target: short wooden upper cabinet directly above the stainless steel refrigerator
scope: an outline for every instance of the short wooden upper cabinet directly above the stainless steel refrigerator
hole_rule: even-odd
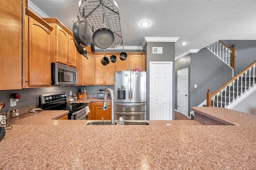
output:
[[[127,53],[127,58],[124,61],[118,56],[115,63],[115,71],[133,71],[134,68],[139,68],[140,71],[144,71],[144,56],[144,53]]]

